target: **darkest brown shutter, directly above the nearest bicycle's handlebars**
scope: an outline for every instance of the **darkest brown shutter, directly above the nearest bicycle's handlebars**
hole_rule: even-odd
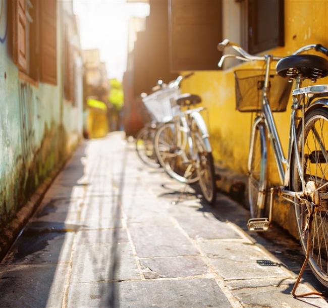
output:
[[[284,0],[248,0],[247,11],[250,54],[284,46]]]

